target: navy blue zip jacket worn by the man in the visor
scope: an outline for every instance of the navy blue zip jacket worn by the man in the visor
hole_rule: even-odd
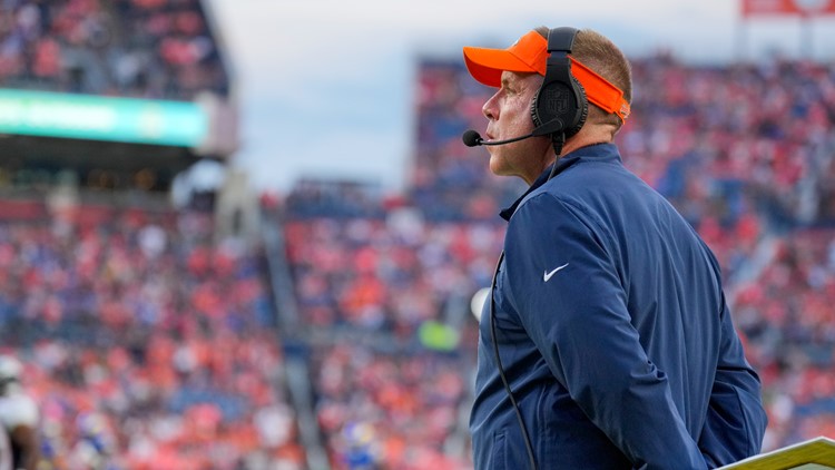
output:
[[[497,342],[539,469],[704,469],[760,451],[759,378],[710,249],[616,146],[560,158],[513,207]],[[529,468],[490,302],[470,419],[475,468]]]

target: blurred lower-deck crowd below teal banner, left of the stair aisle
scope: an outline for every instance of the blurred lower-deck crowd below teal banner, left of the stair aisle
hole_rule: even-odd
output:
[[[0,222],[0,347],[39,404],[40,468],[305,468],[263,255],[214,227],[107,206]]]

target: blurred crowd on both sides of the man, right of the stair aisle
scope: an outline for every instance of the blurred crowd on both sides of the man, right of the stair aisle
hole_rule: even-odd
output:
[[[618,144],[626,165],[681,209],[720,261],[764,380],[765,450],[834,437],[835,65],[687,66],[659,53],[633,60],[633,114]],[[439,388],[394,364],[450,361],[463,364],[459,378],[474,370],[468,302],[489,285],[501,249],[499,208],[524,189],[490,175],[483,150],[461,144],[465,129],[483,127],[485,92],[456,61],[423,61],[409,194],[394,203],[323,198],[307,185],[286,199],[302,316],[316,329],[373,331],[397,351],[338,335],[320,345],[317,412],[336,468],[403,468],[401,439],[413,453],[445,456],[432,468],[465,468],[465,445],[451,443],[465,435],[466,413],[448,420],[453,407],[469,409],[470,381],[450,384],[454,393],[439,403]],[[456,346],[422,344],[429,322],[452,327]],[[425,381],[449,380],[444,368],[423,369]],[[404,402],[412,419],[402,419]],[[434,419],[440,428],[426,423]]]

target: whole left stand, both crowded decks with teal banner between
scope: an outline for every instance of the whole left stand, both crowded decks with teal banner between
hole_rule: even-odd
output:
[[[169,197],[236,144],[212,20],[0,2],[0,352],[40,408],[41,469],[308,467],[245,178]]]

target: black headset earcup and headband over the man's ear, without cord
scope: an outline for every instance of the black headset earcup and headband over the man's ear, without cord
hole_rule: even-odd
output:
[[[568,57],[574,46],[577,29],[562,27],[548,31],[546,78],[531,101],[531,119],[537,128],[548,126],[557,155],[566,138],[579,133],[589,114],[589,100],[582,85],[571,74]]]

